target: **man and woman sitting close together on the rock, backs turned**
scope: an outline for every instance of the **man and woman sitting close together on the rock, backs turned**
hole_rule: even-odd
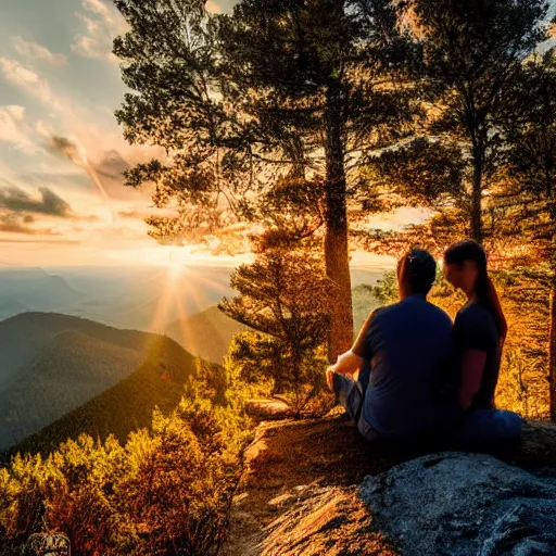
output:
[[[372,312],[352,349],[327,369],[328,386],[367,440],[519,439],[521,417],[494,406],[507,326],[484,250],[471,240],[455,243],[444,274],[468,298],[454,324],[427,301],[434,258],[414,250],[397,264],[401,301]]]

